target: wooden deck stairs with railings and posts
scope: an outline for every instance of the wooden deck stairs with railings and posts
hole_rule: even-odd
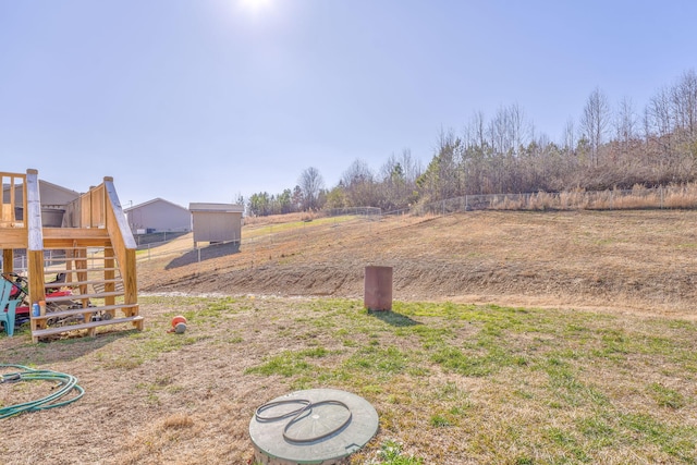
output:
[[[23,184],[24,218],[2,205],[0,248],[3,272],[12,271],[12,248],[26,248],[32,303],[45,303],[32,315],[32,340],[125,323],[143,330],[137,303],[135,241],[119,203],[113,180],[91,187],[75,203],[72,224],[42,228],[38,172],[5,174]],[[8,205],[13,205],[14,199]],[[54,278],[61,277],[61,280]],[[60,281],[60,282],[58,282]],[[71,334],[72,335],[72,334]]]

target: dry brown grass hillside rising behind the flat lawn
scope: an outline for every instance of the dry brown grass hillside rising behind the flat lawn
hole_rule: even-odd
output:
[[[203,249],[200,262],[197,253],[142,260],[140,290],[362,297],[364,268],[383,265],[400,301],[694,315],[695,211],[271,221],[245,225],[240,250]]]

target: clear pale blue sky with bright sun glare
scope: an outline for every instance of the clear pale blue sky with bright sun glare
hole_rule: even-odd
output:
[[[517,105],[561,140],[697,68],[693,0],[0,0],[0,171],[127,208],[331,188]]]

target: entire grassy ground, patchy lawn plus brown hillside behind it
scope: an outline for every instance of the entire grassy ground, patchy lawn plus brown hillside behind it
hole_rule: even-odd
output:
[[[0,463],[248,464],[255,409],[308,388],[376,407],[354,464],[697,463],[697,211],[308,219],[139,257],[143,332],[0,336],[0,363],[85,389],[2,420]],[[394,268],[393,311],[363,308],[367,265]]]

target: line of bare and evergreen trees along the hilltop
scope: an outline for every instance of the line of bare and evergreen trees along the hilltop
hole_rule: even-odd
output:
[[[293,189],[258,193],[250,215],[322,208],[408,208],[473,194],[603,191],[693,182],[697,174],[697,73],[684,72],[638,109],[629,97],[612,105],[599,88],[557,142],[537,134],[518,105],[489,119],[473,113],[461,132],[441,131],[428,166],[405,149],[378,172],[355,160],[339,183],[325,186],[316,168]]]

